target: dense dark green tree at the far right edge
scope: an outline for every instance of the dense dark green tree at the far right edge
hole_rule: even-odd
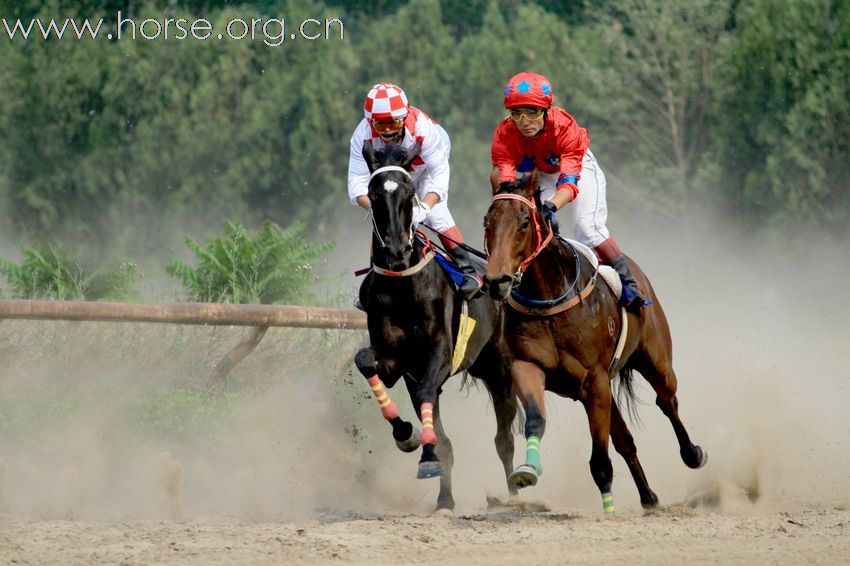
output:
[[[715,155],[730,210],[842,230],[850,212],[850,6],[754,0],[737,13]]]

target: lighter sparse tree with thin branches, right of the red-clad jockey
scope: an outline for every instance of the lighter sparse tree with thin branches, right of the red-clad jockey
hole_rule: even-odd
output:
[[[597,156],[606,173],[623,179],[618,185],[636,194],[641,207],[687,222],[710,139],[730,3],[610,6],[571,43],[570,74],[580,82],[567,95],[587,116],[591,138],[602,140],[604,154]]]

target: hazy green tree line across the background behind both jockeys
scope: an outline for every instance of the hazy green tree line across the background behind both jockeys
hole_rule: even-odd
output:
[[[612,196],[685,223],[709,198],[757,228],[846,229],[847,2],[27,0],[0,15],[122,7],[217,29],[338,17],[346,33],[279,47],[0,38],[0,221],[24,238],[158,250],[173,226],[234,216],[324,235],[380,80],[446,127],[453,206],[481,208],[501,90],[523,69],[548,74],[590,130]]]

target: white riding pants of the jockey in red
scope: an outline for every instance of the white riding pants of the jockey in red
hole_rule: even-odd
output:
[[[540,197],[546,202],[555,194],[559,173],[537,172]],[[573,237],[591,248],[608,239],[608,204],[605,201],[605,173],[588,149],[581,162],[578,196],[572,202]]]

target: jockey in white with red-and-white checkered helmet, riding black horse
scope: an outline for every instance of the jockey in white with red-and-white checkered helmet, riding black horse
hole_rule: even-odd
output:
[[[451,212],[449,212],[449,155],[452,144],[446,131],[425,112],[410,106],[404,91],[394,84],[379,83],[369,90],[363,105],[363,120],[351,135],[351,155],[348,159],[348,197],[351,204],[365,210],[371,208],[369,197],[369,168],[363,158],[363,143],[380,149],[388,143],[411,148],[421,146],[419,156],[411,165],[410,177],[419,203],[413,208],[413,222],[425,223],[440,237],[446,250],[463,271],[461,295],[472,298],[481,289],[482,280],[475,273],[469,252]]]

